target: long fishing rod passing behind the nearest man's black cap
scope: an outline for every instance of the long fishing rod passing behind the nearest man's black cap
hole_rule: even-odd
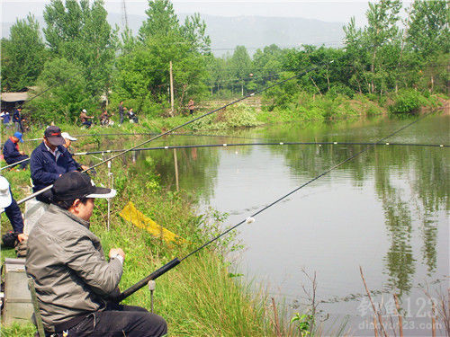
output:
[[[112,159],[115,159],[115,158],[117,158],[118,156],[125,155],[126,153],[128,153],[128,152],[130,152],[130,151],[132,151],[132,150],[134,150],[134,149],[136,149],[136,148],[138,148],[138,147],[140,147],[140,146],[144,146],[144,145],[148,144],[149,142],[151,142],[151,141],[153,141],[153,140],[155,140],[155,139],[157,139],[157,138],[159,138],[159,137],[166,136],[166,135],[168,135],[169,133],[172,133],[173,131],[175,131],[175,130],[177,130],[177,129],[181,129],[181,128],[185,127],[186,125],[192,124],[195,120],[201,120],[202,118],[204,118],[204,117],[206,117],[206,116],[209,116],[209,115],[211,115],[212,113],[215,113],[215,112],[217,112],[217,111],[220,111],[220,110],[222,110],[222,109],[225,109],[225,108],[227,108],[227,107],[229,107],[229,106],[231,106],[231,105],[233,105],[233,104],[236,104],[236,103],[238,103],[238,102],[247,100],[247,98],[253,97],[253,96],[255,96],[257,93],[263,93],[263,92],[265,92],[266,90],[275,87],[276,85],[284,84],[284,83],[286,83],[286,82],[288,82],[288,81],[293,80],[294,78],[297,78],[297,77],[300,77],[300,76],[302,76],[302,75],[308,74],[308,73],[310,73],[311,71],[318,69],[319,67],[328,65],[328,64],[333,63],[333,62],[334,62],[334,60],[332,60],[332,61],[330,61],[330,62],[327,62],[327,63],[324,63],[324,64],[322,64],[322,65],[320,65],[320,66],[314,66],[314,67],[311,67],[311,68],[309,68],[309,69],[303,71],[301,74],[293,75],[293,76],[291,76],[291,77],[288,77],[288,78],[284,79],[283,81],[279,81],[279,82],[276,82],[275,84],[268,85],[268,86],[266,86],[265,88],[263,88],[263,89],[261,89],[261,90],[258,90],[258,91],[255,92],[255,93],[247,94],[247,96],[244,96],[244,97],[239,98],[238,100],[229,102],[229,103],[227,103],[227,104],[221,106],[220,108],[214,109],[213,111],[206,112],[206,113],[202,114],[201,116],[194,118],[193,120],[188,120],[188,121],[186,121],[185,123],[183,123],[183,124],[181,124],[181,125],[179,125],[179,126],[173,128],[173,129],[169,129],[169,130],[167,130],[166,132],[163,132],[163,133],[161,133],[161,134],[159,134],[159,135],[157,135],[157,136],[155,136],[155,137],[151,137],[150,139],[146,140],[145,142],[140,143],[140,144],[137,145],[137,146],[132,146],[132,147],[130,147],[129,149],[126,149],[126,150],[122,151],[122,152],[119,153],[118,155],[112,155],[112,157],[110,157],[110,158],[108,158],[108,159],[105,159],[105,160],[103,160],[103,161],[100,162],[100,163],[97,163],[97,164],[92,165],[91,167],[85,169],[83,172],[87,172],[87,171],[89,171],[89,170],[93,170],[95,167],[97,167],[97,166],[99,166],[99,165],[101,165],[101,164],[105,164],[105,163],[107,163],[107,162],[110,162],[110,161],[112,161]],[[27,200],[31,200],[31,199],[37,197],[38,195],[40,195],[41,193],[43,193],[44,191],[49,191],[52,187],[53,187],[53,184],[51,184],[51,185],[49,185],[49,186],[43,188],[43,189],[40,190],[40,191],[37,191],[37,192],[35,192],[35,193],[32,193],[32,194],[29,195],[28,197],[23,198],[23,200],[17,201],[17,204],[20,205],[20,204],[22,204],[23,202],[25,202],[25,201],[27,201]],[[0,213],[1,213],[1,211],[0,211]]]

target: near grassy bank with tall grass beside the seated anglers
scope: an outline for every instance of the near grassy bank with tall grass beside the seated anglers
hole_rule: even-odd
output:
[[[82,162],[82,160],[80,160]],[[107,185],[106,168],[100,166],[94,181]],[[104,252],[122,247],[126,253],[121,289],[128,288],[150,272],[175,257],[182,258],[216,231],[220,219],[199,216],[194,212],[192,197],[183,192],[161,189],[151,164],[147,167],[123,167],[112,162],[118,196],[112,200],[111,229],[105,228],[107,204],[98,200],[91,219],[91,229],[101,238]],[[29,171],[5,172],[16,199],[28,195]],[[118,213],[132,201],[136,208],[184,238],[184,244],[166,244],[159,238],[123,220]],[[2,232],[9,221],[2,215]],[[157,279],[155,310],[166,318],[174,336],[268,336],[273,326],[266,312],[266,297],[255,295],[248,284],[229,274],[229,262],[223,255],[228,242],[212,244]],[[14,250],[2,248],[2,257],[13,257]],[[125,304],[150,307],[149,291],[140,289]],[[31,325],[2,327],[4,336],[32,336]]]

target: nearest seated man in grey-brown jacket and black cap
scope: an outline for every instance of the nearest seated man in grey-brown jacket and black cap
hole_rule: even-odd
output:
[[[53,200],[31,229],[25,268],[34,279],[40,315],[48,335],[162,336],[166,321],[139,306],[111,301],[117,294],[125,253],[112,248],[109,261],[89,230],[94,198],[114,190],[95,187],[85,173],[61,176]]]

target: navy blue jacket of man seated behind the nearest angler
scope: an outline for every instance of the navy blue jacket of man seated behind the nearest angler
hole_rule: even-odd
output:
[[[58,161],[49,152],[44,142],[40,143],[31,153],[30,169],[34,185],[32,191],[40,191],[51,185],[59,178],[59,174],[76,171],[76,164],[67,148],[58,146],[58,150],[60,152]]]

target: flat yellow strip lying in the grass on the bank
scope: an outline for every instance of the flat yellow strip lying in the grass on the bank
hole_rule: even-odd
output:
[[[157,223],[151,218],[139,212],[131,201],[121,210],[119,215],[125,220],[130,221],[134,226],[145,229],[149,234],[158,238],[161,237],[164,241],[166,241],[166,243],[184,242],[182,237],[175,235],[175,233],[169,231],[163,226],[157,225]]]

